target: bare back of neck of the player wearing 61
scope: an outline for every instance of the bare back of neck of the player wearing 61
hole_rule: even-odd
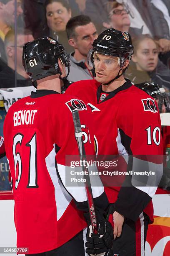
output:
[[[37,90],[53,90],[61,93],[60,79],[54,75],[37,80]]]

